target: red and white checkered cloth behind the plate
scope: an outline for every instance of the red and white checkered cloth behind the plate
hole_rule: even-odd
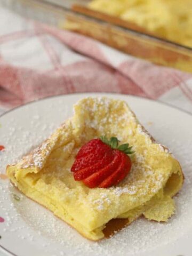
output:
[[[0,114],[34,99],[73,92],[134,94],[192,113],[192,74],[153,65],[6,9],[1,9],[0,20]]]

